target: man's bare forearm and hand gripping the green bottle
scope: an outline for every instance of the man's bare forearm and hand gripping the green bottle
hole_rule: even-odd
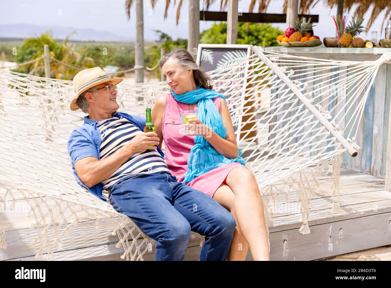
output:
[[[109,157],[98,160],[96,157],[85,157],[75,163],[75,170],[81,182],[88,188],[106,180],[132,155],[146,149],[157,149],[159,138],[154,132],[136,135],[129,143],[115,151]]]

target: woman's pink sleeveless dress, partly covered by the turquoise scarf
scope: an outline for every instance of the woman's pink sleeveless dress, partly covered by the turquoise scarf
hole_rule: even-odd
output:
[[[213,103],[218,111],[220,110],[220,98],[213,98]],[[194,107],[194,110],[197,111],[197,108],[198,105]],[[195,137],[183,132],[179,112],[184,110],[189,110],[188,104],[176,101],[171,93],[166,94],[166,108],[161,131],[165,145],[166,163],[170,173],[176,176],[178,182],[185,179],[185,174],[188,171],[187,160],[190,156],[190,149],[194,146]],[[197,176],[185,184],[213,197],[228,173],[239,166],[245,167],[239,162],[232,162]]]

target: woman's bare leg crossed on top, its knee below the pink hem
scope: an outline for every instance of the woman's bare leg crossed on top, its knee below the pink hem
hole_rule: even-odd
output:
[[[235,195],[235,220],[246,238],[253,259],[268,261],[270,253],[264,204],[253,173],[246,167],[235,167],[228,174],[225,184]]]

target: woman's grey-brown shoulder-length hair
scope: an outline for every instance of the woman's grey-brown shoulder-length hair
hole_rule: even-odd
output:
[[[159,67],[163,66],[163,64],[170,58],[174,58],[178,61],[179,66],[181,66],[185,70],[193,70],[194,82],[195,85],[200,86],[205,89],[212,89],[212,79],[205,73],[205,71],[198,67],[197,63],[195,63],[193,57],[186,49],[173,49],[170,50],[163,58],[159,61]]]

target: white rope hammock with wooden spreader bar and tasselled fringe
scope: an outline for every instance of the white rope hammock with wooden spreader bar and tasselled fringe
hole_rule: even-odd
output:
[[[295,193],[301,203],[300,232],[307,234],[319,177],[332,180],[331,212],[340,212],[342,155],[357,155],[354,139],[369,88],[391,56],[355,62],[264,52],[260,47],[253,52],[208,74],[215,79],[213,89],[228,98],[239,148],[262,193],[267,227],[278,202]],[[120,84],[118,111],[144,116],[145,108],[168,91],[165,82]],[[39,244],[37,259],[53,259],[54,252],[74,241],[72,227],[95,221],[102,233],[118,236],[122,259],[142,260],[154,240],[74,179],[66,147],[85,114],[70,111],[73,97],[72,81],[0,70],[0,207],[12,211],[20,202],[28,205],[28,216],[35,218],[31,229]],[[1,215],[0,248],[6,248]]]

